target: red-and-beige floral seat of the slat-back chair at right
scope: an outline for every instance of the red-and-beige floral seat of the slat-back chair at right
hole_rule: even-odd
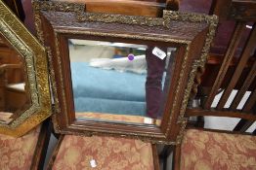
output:
[[[256,169],[256,136],[187,130],[182,170]]]

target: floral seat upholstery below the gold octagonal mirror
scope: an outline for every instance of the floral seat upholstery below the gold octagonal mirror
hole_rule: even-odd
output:
[[[31,166],[41,126],[20,138],[0,135],[0,169],[28,170]]]

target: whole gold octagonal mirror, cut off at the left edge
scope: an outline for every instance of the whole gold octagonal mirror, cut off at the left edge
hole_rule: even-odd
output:
[[[21,136],[51,115],[46,51],[0,1],[0,133]]]

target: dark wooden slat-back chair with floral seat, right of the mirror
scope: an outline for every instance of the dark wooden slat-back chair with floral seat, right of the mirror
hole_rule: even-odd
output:
[[[252,10],[254,9],[254,10]],[[174,169],[254,169],[256,165],[256,134],[254,130],[251,134],[244,132],[256,120],[256,28],[255,15],[256,3],[254,1],[213,1],[211,13],[223,20],[231,19],[235,21],[235,29],[226,52],[220,55],[216,75],[212,72],[205,72],[204,77],[197,77],[198,84],[205,79],[213,81],[212,85],[201,84],[199,90],[195,88],[195,99],[199,103],[197,106],[190,106],[185,114],[185,118],[198,116],[229,117],[241,119],[235,127],[235,131],[207,130],[202,128],[190,128],[184,132],[184,139],[180,145],[169,147],[174,149],[173,168]],[[248,37],[245,37],[244,46],[240,40],[244,38],[244,30],[248,25],[253,26],[249,30]],[[242,50],[237,52],[237,48]],[[236,52],[236,54],[235,54]],[[210,55],[213,56],[213,53]],[[211,57],[210,57],[211,58]],[[215,60],[216,61],[216,60]],[[211,61],[208,60],[209,63]],[[232,68],[233,67],[233,68]],[[209,68],[208,68],[209,69]],[[212,69],[212,68],[211,68]],[[233,73],[229,75],[229,69]],[[232,70],[230,70],[232,71]],[[208,80],[207,80],[208,79]],[[237,93],[230,106],[225,106],[232,91]],[[212,107],[214,98],[219,92],[223,94],[216,107]],[[237,106],[246,91],[249,97],[241,109]],[[192,96],[194,97],[194,96]]]

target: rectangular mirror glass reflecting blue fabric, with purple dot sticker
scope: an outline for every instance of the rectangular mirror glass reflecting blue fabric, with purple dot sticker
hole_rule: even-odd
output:
[[[160,124],[175,49],[78,39],[68,49],[76,119]]]

